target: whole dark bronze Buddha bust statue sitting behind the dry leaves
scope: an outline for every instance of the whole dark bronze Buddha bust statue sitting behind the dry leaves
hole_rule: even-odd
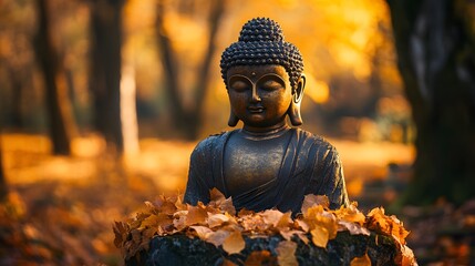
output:
[[[230,102],[228,125],[240,120],[244,126],[197,144],[184,201],[207,203],[216,187],[237,209],[276,207],[296,215],[307,194],[327,195],[330,208],[348,205],[337,150],[298,127],[303,62],[280,25],[264,18],[248,21],[223,52],[220,68]]]

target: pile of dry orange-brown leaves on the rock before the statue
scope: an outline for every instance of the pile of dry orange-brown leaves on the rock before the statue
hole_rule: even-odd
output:
[[[307,195],[301,214],[295,219],[290,212],[277,209],[258,213],[241,209],[236,214],[231,198],[225,198],[216,188],[210,191],[207,205],[200,202],[197,206],[184,204],[179,196],[159,196],[155,202],[145,204],[145,212],[137,213],[135,218],[126,223],[115,222],[114,243],[122,249],[125,259],[134,257],[140,250],[146,250],[154,236],[197,236],[228,254],[236,254],[246,246],[244,235],[260,237],[280,234],[283,241],[277,248],[279,264],[297,265],[293,236],[307,245],[324,248],[330,239],[337,237],[338,232],[370,235],[372,231],[394,238],[401,255],[399,264],[415,265],[412,250],[405,246],[409,232],[395,216],[386,216],[383,208],[374,208],[366,216],[357,208],[355,203],[331,211],[326,196]],[[368,254],[354,258],[353,263],[371,265]]]

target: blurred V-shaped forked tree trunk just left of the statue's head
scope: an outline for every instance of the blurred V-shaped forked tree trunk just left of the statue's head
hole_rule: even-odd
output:
[[[172,119],[175,127],[180,131],[188,140],[196,140],[198,137],[199,129],[203,122],[203,108],[205,96],[209,83],[209,70],[211,66],[211,59],[216,52],[216,35],[219,29],[220,19],[225,11],[225,0],[214,0],[209,13],[209,38],[207,41],[207,49],[203,62],[199,66],[197,84],[194,91],[194,104],[186,108],[179,96],[182,91],[178,83],[178,68],[177,57],[172,49],[172,42],[168,38],[164,25],[164,2],[159,1],[157,4],[156,23],[158,48],[162,57],[162,63],[165,70],[165,86],[168,93],[172,109]]]

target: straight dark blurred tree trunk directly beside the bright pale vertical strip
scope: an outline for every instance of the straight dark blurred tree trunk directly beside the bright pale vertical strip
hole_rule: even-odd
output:
[[[117,152],[124,141],[121,123],[121,48],[123,0],[93,1],[91,10],[90,89],[94,126]]]

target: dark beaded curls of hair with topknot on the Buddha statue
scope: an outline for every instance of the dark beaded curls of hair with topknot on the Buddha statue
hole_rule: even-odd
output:
[[[236,65],[282,65],[290,76],[295,90],[303,71],[300,51],[286,42],[280,25],[267,18],[255,18],[242,25],[237,42],[230,44],[221,54],[221,76],[227,88],[227,72]]]

